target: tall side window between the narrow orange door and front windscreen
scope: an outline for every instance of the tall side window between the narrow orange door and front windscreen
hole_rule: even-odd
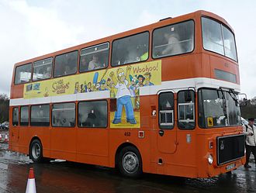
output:
[[[188,97],[188,95],[190,95]],[[178,92],[178,128],[195,128],[195,92],[186,90]]]

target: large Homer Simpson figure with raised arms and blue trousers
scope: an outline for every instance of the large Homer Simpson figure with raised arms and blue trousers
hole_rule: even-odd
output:
[[[127,67],[126,74],[124,74],[123,69],[119,68],[116,71],[117,80],[113,71],[110,72],[109,74],[110,78],[115,84],[115,88],[117,89],[116,112],[115,112],[115,118],[112,121],[113,124],[118,124],[119,122],[121,122],[123,105],[126,109],[126,122],[130,122],[131,124],[137,123],[134,118],[133,105],[130,100],[130,91],[127,88],[128,87],[127,79],[129,78],[130,70],[131,70],[131,67]]]

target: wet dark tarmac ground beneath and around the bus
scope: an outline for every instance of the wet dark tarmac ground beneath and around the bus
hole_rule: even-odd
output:
[[[3,132],[0,132],[3,133]],[[256,168],[240,167],[232,174],[209,179],[190,179],[144,174],[140,179],[121,177],[106,167],[75,164],[56,160],[33,164],[21,153],[8,150],[8,143],[0,143],[0,192],[25,192],[29,167],[36,177],[36,192],[65,193],[167,193],[167,192],[256,192]]]

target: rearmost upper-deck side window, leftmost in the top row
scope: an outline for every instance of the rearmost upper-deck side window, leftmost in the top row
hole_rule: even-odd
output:
[[[22,84],[31,80],[31,67],[32,64],[26,64],[16,67],[15,84]]]

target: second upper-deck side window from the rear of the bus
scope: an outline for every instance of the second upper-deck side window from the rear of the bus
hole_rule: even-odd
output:
[[[51,69],[53,66],[53,58],[47,58],[34,62],[33,65],[33,81],[40,81],[43,79],[50,78]]]

